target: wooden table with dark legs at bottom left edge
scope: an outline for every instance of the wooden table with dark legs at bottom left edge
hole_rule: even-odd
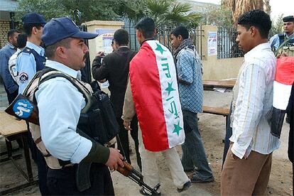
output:
[[[16,190],[19,190],[23,187],[28,187],[29,185],[33,185],[38,182],[38,180],[33,179],[33,171],[32,171],[32,165],[31,165],[31,158],[30,153],[28,150],[28,135],[27,135],[27,126],[26,121],[18,121],[14,116],[11,116],[9,114],[6,114],[5,111],[0,111],[0,134],[4,136],[6,140],[6,147],[7,147],[7,155],[9,160],[12,161],[12,163],[16,166],[18,171],[23,175],[24,178],[26,178],[27,183],[24,183],[22,185],[18,185],[16,187],[12,187],[6,190],[3,190],[0,192],[0,195],[7,194],[9,192],[13,192]],[[15,140],[16,138],[21,138],[23,141],[23,152],[26,160],[26,170],[27,173],[25,173],[21,166],[16,163],[12,156],[12,146],[11,141]]]

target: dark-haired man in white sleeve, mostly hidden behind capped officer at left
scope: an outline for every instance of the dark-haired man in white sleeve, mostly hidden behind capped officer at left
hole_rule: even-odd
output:
[[[25,33],[19,34],[17,37],[17,50],[16,53],[14,53],[11,58],[9,58],[9,72],[13,80],[19,85],[18,81],[18,73],[16,70],[16,58],[19,53],[23,50],[23,48],[26,47],[26,40],[27,36]],[[18,90],[17,90],[18,93]]]

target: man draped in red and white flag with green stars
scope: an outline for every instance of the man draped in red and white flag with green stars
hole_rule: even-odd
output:
[[[174,148],[185,141],[175,64],[168,48],[154,40],[155,35],[153,19],[139,21],[136,36],[141,48],[130,62],[122,119],[129,129],[134,114],[138,116],[144,183],[151,187],[160,183],[156,152],[161,152],[178,192],[182,192],[191,183]],[[148,195],[143,188],[140,192]]]

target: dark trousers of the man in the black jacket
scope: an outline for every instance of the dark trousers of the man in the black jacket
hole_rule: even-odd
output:
[[[124,129],[124,120],[123,119],[116,118],[116,120],[119,123],[119,129],[120,129],[119,138],[120,138],[121,143],[118,141],[119,151],[121,151],[121,154],[125,156],[128,163],[131,164],[128,131],[126,129]],[[138,119],[137,119],[136,115],[134,116],[133,120],[131,121],[131,138],[133,138],[134,142],[135,142],[136,158],[137,158],[138,167],[140,168],[140,170],[142,170],[141,156],[140,156],[140,153],[138,152]]]

